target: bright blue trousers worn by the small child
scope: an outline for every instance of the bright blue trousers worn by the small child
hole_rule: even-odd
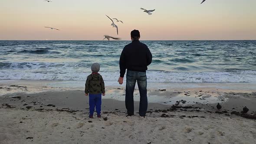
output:
[[[97,115],[100,115],[101,106],[102,106],[102,94],[89,94],[90,115],[93,115],[95,108],[96,108]]]

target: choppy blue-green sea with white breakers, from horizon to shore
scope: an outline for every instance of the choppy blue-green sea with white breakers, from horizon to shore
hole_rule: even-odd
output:
[[[256,83],[256,40],[141,41],[150,49],[148,83]],[[0,80],[85,82],[94,62],[116,84],[131,41],[0,41]],[[84,86],[84,85],[83,85]],[[256,88],[255,88],[256,89]]]

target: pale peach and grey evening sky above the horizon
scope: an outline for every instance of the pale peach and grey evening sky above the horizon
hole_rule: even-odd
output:
[[[256,39],[256,0],[52,1],[0,0],[0,40],[129,40],[133,29],[141,40]],[[119,35],[105,14],[124,22]]]

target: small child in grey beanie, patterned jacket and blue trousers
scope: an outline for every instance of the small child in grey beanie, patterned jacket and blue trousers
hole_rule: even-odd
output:
[[[85,83],[85,95],[89,93],[89,118],[93,118],[96,107],[97,117],[101,117],[102,95],[105,95],[105,85],[102,76],[98,73],[100,66],[98,63],[92,64],[92,74],[88,75]]]

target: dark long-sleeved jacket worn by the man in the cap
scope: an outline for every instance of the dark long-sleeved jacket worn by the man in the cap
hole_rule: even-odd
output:
[[[120,60],[120,77],[125,76],[125,69],[146,72],[148,65],[152,62],[152,54],[144,43],[139,40],[133,40],[123,49]]]

